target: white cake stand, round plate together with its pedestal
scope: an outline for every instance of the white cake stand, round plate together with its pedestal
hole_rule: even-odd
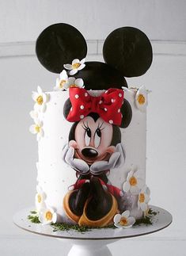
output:
[[[150,205],[154,212],[158,212],[152,217],[152,225],[140,224],[130,228],[101,228],[91,229],[84,233],[79,231],[56,231],[51,225],[32,224],[28,220],[30,211],[34,209],[25,208],[13,216],[13,223],[25,231],[30,231],[37,235],[46,235],[57,239],[68,239],[72,244],[68,256],[112,256],[108,249],[108,243],[114,243],[119,239],[128,239],[139,235],[147,235],[168,227],[171,224],[172,215],[162,208]]]

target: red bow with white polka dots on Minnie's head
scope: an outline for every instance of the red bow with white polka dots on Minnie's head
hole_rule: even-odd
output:
[[[121,124],[120,108],[123,104],[123,90],[111,88],[100,96],[93,97],[87,90],[76,87],[70,88],[69,94],[72,107],[66,118],[68,121],[79,121],[93,112],[109,124]]]

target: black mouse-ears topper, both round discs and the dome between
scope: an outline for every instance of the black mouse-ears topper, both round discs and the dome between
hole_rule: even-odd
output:
[[[44,29],[36,41],[36,55],[47,70],[60,73],[65,67],[70,75],[83,79],[87,90],[127,87],[123,76],[143,75],[152,62],[150,40],[132,27],[116,29],[108,35],[103,48],[105,63],[85,63],[86,52],[82,34],[63,23]]]

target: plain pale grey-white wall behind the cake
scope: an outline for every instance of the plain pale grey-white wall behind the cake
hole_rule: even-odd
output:
[[[151,204],[169,210],[173,224],[142,238],[121,240],[114,255],[186,255],[186,1],[0,0],[0,255],[66,255],[70,245],[13,226],[13,213],[34,203],[36,140],[29,134],[31,91],[51,90],[55,75],[34,55],[39,33],[56,22],[77,27],[88,40],[89,59],[101,59],[102,40],[124,25],[150,37],[154,63],[131,86],[149,95],[146,182]],[[17,43],[20,42],[20,43]],[[120,248],[120,250],[119,250]],[[122,248],[122,250],[121,250]]]

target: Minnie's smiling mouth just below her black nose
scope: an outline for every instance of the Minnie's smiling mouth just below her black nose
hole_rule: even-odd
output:
[[[82,150],[83,151],[83,150]],[[110,158],[111,154],[108,153],[108,152],[105,152],[103,155],[97,155],[95,157],[88,157],[88,156],[85,156],[83,155],[79,150],[75,150],[75,157],[77,159],[82,159],[84,160],[85,162],[87,162],[89,165],[92,165],[93,162],[97,162],[97,161],[108,161],[108,159]]]

